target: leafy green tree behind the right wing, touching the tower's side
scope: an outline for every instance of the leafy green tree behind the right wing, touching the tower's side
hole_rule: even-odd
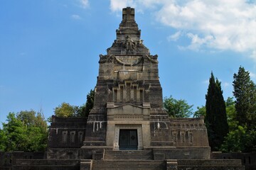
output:
[[[192,107],[185,100],[176,100],[172,96],[164,98],[164,108],[171,118],[189,118],[193,114]]]

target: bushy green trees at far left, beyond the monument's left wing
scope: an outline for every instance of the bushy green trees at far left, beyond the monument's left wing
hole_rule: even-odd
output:
[[[42,113],[32,110],[9,113],[0,130],[0,150],[43,152],[47,137],[47,124]]]

